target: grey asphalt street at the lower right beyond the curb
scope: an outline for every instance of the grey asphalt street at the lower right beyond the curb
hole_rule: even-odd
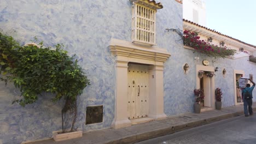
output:
[[[136,144],[256,143],[256,115],[244,115],[156,137]]]

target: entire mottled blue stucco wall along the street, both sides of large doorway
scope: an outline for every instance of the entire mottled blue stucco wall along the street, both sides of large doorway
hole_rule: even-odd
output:
[[[214,66],[227,70],[226,77],[221,71],[216,74],[215,83],[223,88],[223,106],[234,105],[233,70],[245,70],[246,77],[256,75],[255,64],[249,63],[248,58],[214,59],[184,49],[181,37],[166,31],[166,28],[183,29],[182,4],[171,0],[158,2],[164,8],[156,14],[156,43],[172,55],[164,68],[166,115],[193,112],[195,65],[201,64],[195,56],[209,62],[214,60]],[[114,118],[115,61],[108,46],[111,38],[131,41],[130,1],[2,0],[0,28],[21,44],[36,36],[46,46],[61,43],[69,55],[76,54],[91,85],[80,96],[75,128],[88,131],[110,127]],[[183,73],[185,63],[190,66],[187,75]],[[37,103],[26,107],[11,105],[19,97],[19,89],[11,83],[7,87],[0,83],[0,144],[44,139],[51,137],[52,131],[60,130],[63,101],[53,104],[50,96],[45,93]],[[85,107],[92,105],[103,105],[103,123],[85,125]]]

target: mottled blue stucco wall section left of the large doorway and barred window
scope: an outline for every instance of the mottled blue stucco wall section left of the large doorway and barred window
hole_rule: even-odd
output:
[[[61,43],[91,80],[80,96],[78,129],[109,128],[114,118],[115,69],[109,51],[111,38],[131,39],[129,1],[1,1],[0,28],[21,44],[34,36],[46,46]],[[36,104],[11,105],[19,90],[1,83],[0,143],[20,143],[52,136],[61,130],[61,101],[48,96]],[[49,97],[49,98],[48,98]],[[63,101],[62,101],[63,102]],[[104,106],[103,123],[85,125],[85,107]]]

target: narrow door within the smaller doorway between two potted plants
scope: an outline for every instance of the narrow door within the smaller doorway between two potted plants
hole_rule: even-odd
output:
[[[205,93],[204,106],[211,107],[211,79],[206,75],[203,75],[203,92]]]

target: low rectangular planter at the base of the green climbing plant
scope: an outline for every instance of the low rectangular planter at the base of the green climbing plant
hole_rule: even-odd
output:
[[[69,139],[75,139],[83,136],[83,131],[73,131],[71,133],[56,134],[53,136],[55,141],[63,141]]]

